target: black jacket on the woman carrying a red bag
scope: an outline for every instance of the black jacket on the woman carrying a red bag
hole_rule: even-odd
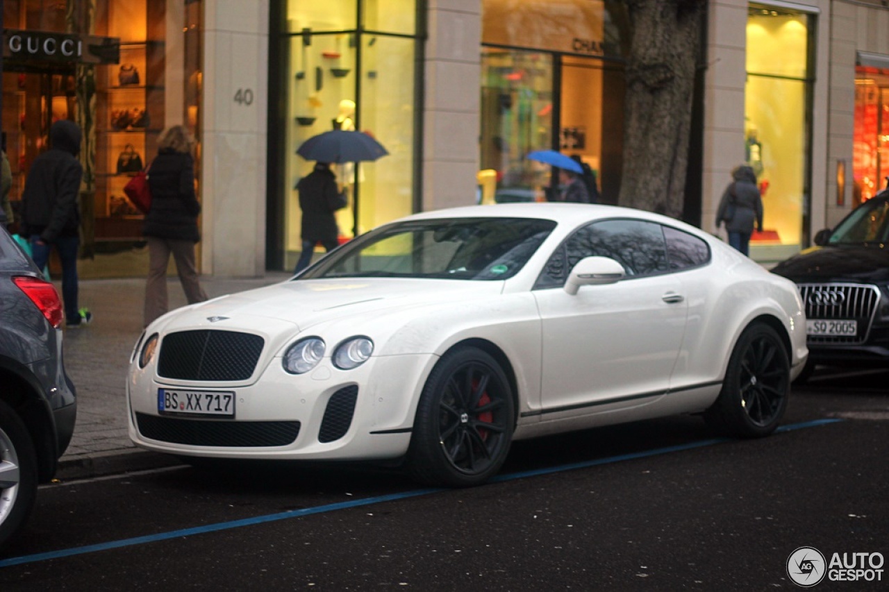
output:
[[[172,148],[158,151],[148,168],[151,209],[145,216],[142,234],[170,240],[201,240],[197,214],[201,204],[195,196],[195,160]]]

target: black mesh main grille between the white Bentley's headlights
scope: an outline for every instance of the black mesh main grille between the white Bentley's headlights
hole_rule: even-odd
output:
[[[259,335],[235,331],[180,331],[164,336],[157,374],[176,380],[247,380],[265,344]]]

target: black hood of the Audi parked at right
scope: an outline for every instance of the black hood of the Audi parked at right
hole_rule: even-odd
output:
[[[878,244],[824,246],[782,261],[772,271],[797,284],[889,281],[889,249]]]

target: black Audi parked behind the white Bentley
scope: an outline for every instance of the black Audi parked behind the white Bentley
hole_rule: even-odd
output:
[[[815,244],[773,268],[805,301],[809,362],[801,377],[814,364],[889,365],[889,190],[821,230]]]

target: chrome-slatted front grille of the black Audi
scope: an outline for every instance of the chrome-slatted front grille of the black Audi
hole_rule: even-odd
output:
[[[854,335],[809,335],[814,344],[863,343],[877,313],[880,291],[866,284],[799,284],[809,321],[855,321]]]

